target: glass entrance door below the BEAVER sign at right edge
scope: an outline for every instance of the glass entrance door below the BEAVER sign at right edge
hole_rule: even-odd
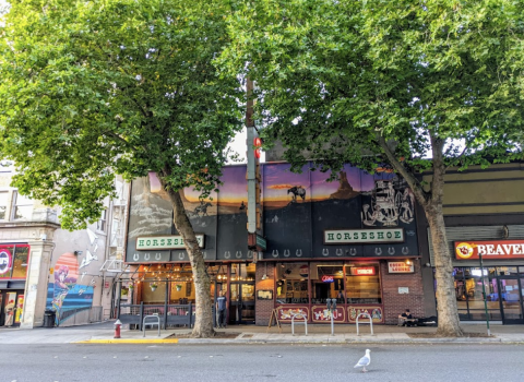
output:
[[[499,277],[500,310],[502,323],[524,324],[522,306],[523,279],[516,277]]]

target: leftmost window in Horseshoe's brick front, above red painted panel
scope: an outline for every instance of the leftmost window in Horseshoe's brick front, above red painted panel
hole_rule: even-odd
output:
[[[307,263],[276,265],[276,301],[278,303],[309,303],[309,266]]]

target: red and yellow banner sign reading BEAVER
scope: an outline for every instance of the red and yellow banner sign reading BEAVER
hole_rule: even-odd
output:
[[[524,259],[524,240],[455,241],[456,260]]]

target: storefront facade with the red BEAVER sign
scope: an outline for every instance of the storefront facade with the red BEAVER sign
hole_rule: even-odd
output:
[[[430,181],[430,176],[425,180]],[[443,211],[461,321],[524,323],[523,189],[521,163],[450,170],[446,175]],[[424,218],[420,224],[425,224]],[[419,234],[422,263],[432,266],[429,229]],[[425,275],[424,282],[426,286],[433,283],[434,289],[430,275]],[[432,303],[431,299],[426,296],[426,303]]]

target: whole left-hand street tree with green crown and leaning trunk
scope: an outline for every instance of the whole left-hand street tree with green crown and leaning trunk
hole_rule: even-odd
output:
[[[22,194],[96,220],[114,179],[157,174],[193,270],[196,337],[214,335],[210,278],[180,191],[216,189],[241,128],[239,82],[217,76],[225,3],[13,1],[0,28],[0,157]],[[0,24],[1,25],[1,24]]]

